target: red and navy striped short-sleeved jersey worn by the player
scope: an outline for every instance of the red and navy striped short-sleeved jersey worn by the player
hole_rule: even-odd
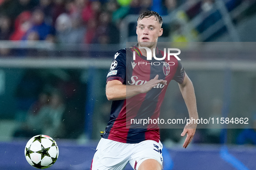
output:
[[[135,60],[133,58],[135,51]],[[164,52],[156,48],[156,57],[162,58]],[[140,93],[129,99],[115,100],[110,110],[110,120],[105,129],[103,138],[123,143],[139,143],[145,140],[159,142],[160,134],[157,124],[143,125],[134,123],[135,120],[157,119],[160,107],[164,100],[165,92],[171,80],[182,83],[185,70],[174,56],[167,60],[159,61],[155,58],[147,60],[137,46],[123,48],[115,52],[110,71],[107,74],[107,82],[119,80],[125,85],[142,85],[153,79],[156,75],[159,79],[167,80],[167,85],[158,84],[147,93]],[[129,91],[126,90],[126,93]],[[131,120],[134,120],[133,122]]]

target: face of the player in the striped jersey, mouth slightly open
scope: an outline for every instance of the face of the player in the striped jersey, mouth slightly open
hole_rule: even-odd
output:
[[[138,20],[136,34],[141,47],[154,48],[163,29],[155,16]]]

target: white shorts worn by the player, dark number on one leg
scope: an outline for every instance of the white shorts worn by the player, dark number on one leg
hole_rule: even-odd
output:
[[[128,164],[134,170],[147,159],[155,159],[161,164],[162,143],[146,140],[138,144],[126,144],[101,138],[94,154],[91,170],[123,170]]]

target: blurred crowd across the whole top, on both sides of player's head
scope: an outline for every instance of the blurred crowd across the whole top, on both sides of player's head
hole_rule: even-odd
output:
[[[116,44],[120,42],[120,20],[125,16],[146,10],[165,16],[187,1],[159,0],[153,4],[153,0],[0,0],[0,40]],[[192,5],[174,16],[177,20],[167,28],[174,33],[172,41],[192,41],[182,35],[186,22],[215,8],[214,0],[189,1]],[[227,1],[227,10],[242,1]],[[195,28],[195,36],[221,18],[218,11],[205,16]]]

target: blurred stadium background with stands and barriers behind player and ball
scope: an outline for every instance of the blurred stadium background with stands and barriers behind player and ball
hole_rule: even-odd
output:
[[[248,117],[253,124],[255,9],[255,0],[0,0],[0,169],[33,169],[23,149],[39,133],[60,148],[49,169],[89,169],[109,119],[107,70],[114,52],[136,41],[136,19],[145,10],[163,16],[159,42],[187,54],[181,60],[199,117]],[[208,48],[190,55],[193,44]],[[170,112],[187,114],[177,83],[171,88]],[[40,112],[55,117],[37,119]],[[161,129],[165,170],[254,170],[252,128],[197,129],[185,150],[182,129]]]

